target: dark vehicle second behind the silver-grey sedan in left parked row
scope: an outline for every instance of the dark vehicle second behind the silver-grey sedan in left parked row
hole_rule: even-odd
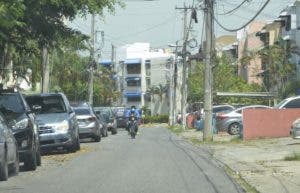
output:
[[[116,116],[110,107],[94,107],[94,111],[102,114],[107,124],[107,129],[111,131],[112,134],[116,134],[118,132]]]

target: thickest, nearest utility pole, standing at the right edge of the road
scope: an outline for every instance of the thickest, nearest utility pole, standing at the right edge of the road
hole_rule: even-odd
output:
[[[204,77],[204,129],[203,141],[212,141],[212,54],[213,54],[213,0],[205,0],[205,77]]]

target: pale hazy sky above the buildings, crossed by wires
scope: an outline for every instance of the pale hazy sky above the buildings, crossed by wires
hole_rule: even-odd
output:
[[[191,38],[197,45],[203,40],[202,0],[123,0],[125,8],[116,7],[115,14],[104,12],[104,17],[96,17],[96,30],[104,32],[104,41],[100,35],[96,47],[101,48],[102,59],[109,59],[111,45],[117,47],[135,42],[148,42],[153,48],[166,48],[183,37],[183,11],[176,7],[192,6],[198,8],[198,23],[193,22]],[[249,21],[262,7],[266,0],[249,0],[237,11],[223,15],[236,8],[242,0],[216,0],[215,17],[226,28],[236,29]],[[256,20],[272,21],[281,10],[295,0],[270,0]],[[189,14],[190,15],[190,12]],[[90,34],[90,17],[76,18],[69,25],[85,34]],[[215,36],[235,34],[227,32],[215,23]],[[198,48],[195,48],[198,49]]]

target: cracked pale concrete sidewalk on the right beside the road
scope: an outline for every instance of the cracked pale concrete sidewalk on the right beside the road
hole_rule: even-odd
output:
[[[187,130],[183,138],[201,144],[202,132]],[[300,192],[300,161],[284,161],[300,153],[300,140],[288,138],[236,140],[226,133],[205,144],[214,157],[261,193]],[[203,145],[203,144],[202,144]]]

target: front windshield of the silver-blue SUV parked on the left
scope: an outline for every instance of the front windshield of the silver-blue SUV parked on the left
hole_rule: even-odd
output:
[[[65,113],[66,106],[60,96],[30,96],[26,100],[31,108],[39,106],[38,114]]]

